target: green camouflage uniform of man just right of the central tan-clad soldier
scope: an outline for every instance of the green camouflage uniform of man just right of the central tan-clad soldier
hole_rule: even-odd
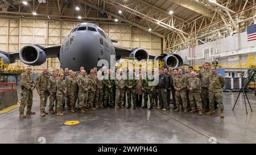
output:
[[[127,93],[127,103],[128,107],[131,107],[131,98],[133,98],[133,108],[136,107],[136,85],[137,80],[136,79],[127,79],[125,82],[125,86],[127,87],[126,93]],[[129,88],[131,86],[131,89]]]

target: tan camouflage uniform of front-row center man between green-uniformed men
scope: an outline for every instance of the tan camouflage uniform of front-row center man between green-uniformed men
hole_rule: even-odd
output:
[[[123,89],[121,89],[122,86],[123,86]],[[122,107],[124,95],[125,95],[125,79],[115,78],[115,104],[118,108]]]

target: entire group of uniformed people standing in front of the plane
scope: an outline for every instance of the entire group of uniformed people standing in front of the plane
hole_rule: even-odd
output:
[[[148,76],[150,74],[145,74],[146,72],[152,73],[152,77]],[[158,81],[154,84],[156,78]],[[181,105],[184,113],[198,111],[199,115],[203,115],[209,108],[205,114],[213,115],[215,114],[214,100],[217,100],[220,116],[221,118],[224,117],[221,89],[224,86],[224,78],[216,73],[214,66],[209,69],[209,63],[205,62],[204,69],[198,75],[193,71],[192,66],[189,66],[189,73],[185,75],[183,75],[182,69],[172,69],[171,67],[155,69],[154,72],[141,70],[139,74],[127,68],[125,70],[117,67],[107,69],[106,66],[102,67],[102,71],[94,67],[89,74],[82,66],[80,72],[73,72],[73,70],[66,68],[64,73],[53,70],[52,74],[48,72],[47,68],[43,68],[43,72],[36,77],[36,82],[32,79],[32,67],[27,66],[26,72],[21,75],[20,118],[35,114],[31,111],[32,91],[34,89],[38,91],[40,96],[41,116],[48,114],[46,112],[48,97],[49,112],[57,116],[64,115],[65,105],[67,105],[67,110],[72,113],[75,113],[78,108],[82,114],[98,108],[125,108],[126,96],[126,108],[131,108],[131,102],[133,102],[133,109],[135,110],[137,107],[135,89],[138,80],[142,81],[144,99],[142,108],[148,108],[149,98],[149,110],[157,106],[159,110],[167,111],[170,109],[170,104],[174,104],[175,112],[180,111]],[[78,107],[76,107],[76,102]],[[24,115],[26,106],[27,111]]]

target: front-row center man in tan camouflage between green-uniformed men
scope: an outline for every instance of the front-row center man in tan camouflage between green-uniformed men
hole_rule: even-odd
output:
[[[122,107],[123,96],[125,95],[125,76],[123,76],[122,69],[119,70],[119,74],[115,78],[115,107],[119,109]]]

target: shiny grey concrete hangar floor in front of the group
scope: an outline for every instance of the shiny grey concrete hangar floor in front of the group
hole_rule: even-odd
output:
[[[18,108],[0,114],[0,143],[256,143],[256,113],[246,115],[243,98],[233,104],[238,93],[225,92],[225,118],[179,114],[172,110],[106,109],[64,116],[39,115],[39,96],[34,91],[32,110],[36,115],[19,119]],[[248,93],[256,111],[254,94]],[[47,103],[48,104],[48,103]],[[48,111],[48,105],[47,105]],[[64,125],[79,120],[77,125]],[[213,141],[214,143],[214,141]]]

